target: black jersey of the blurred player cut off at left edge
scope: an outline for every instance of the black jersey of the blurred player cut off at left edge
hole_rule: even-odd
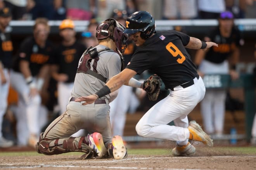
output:
[[[9,33],[0,32],[0,46],[0,61],[5,68],[11,68],[13,46]]]

